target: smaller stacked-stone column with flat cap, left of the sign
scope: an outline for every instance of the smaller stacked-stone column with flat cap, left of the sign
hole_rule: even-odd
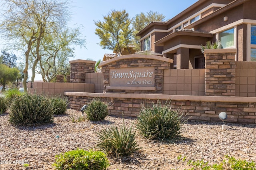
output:
[[[84,83],[85,74],[94,72],[96,61],[72,60],[70,63],[70,82]]]

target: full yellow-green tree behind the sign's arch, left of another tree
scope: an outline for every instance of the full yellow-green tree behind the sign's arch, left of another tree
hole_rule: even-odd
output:
[[[132,43],[133,29],[130,27],[132,20],[129,14],[125,10],[112,10],[103,18],[104,21],[94,21],[97,26],[95,33],[101,39],[100,46],[122,55],[122,48],[129,49],[128,44]]]

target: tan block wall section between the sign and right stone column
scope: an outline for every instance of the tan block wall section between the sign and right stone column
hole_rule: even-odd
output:
[[[163,94],[204,96],[205,69],[164,70]]]

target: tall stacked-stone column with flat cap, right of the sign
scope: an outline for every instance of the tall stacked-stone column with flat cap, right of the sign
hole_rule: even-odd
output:
[[[236,49],[206,49],[205,96],[235,96]]]

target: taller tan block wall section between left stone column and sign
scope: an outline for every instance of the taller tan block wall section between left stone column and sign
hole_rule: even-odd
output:
[[[103,93],[104,74],[102,72],[86,73],[85,83],[94,84],[95,93]]]

